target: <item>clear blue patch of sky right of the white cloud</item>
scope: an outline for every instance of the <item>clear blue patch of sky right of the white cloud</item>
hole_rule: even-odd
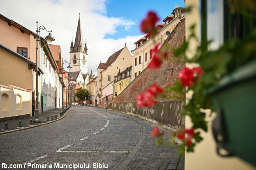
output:
[[[126,30],[124,26],[116,28],[114,34],[106,34],[104,38],[118,39],[125,36],[143,35],[139,30],[141,20],[146,16],[149,10],[155,11],[160,17],[160,22],[166,16],[170,15],[172,10],[177,6],[184,7],[184,0],[108,0],[106,2],[106,16],[123,17],[126,20],[135,22],[130,30]]]

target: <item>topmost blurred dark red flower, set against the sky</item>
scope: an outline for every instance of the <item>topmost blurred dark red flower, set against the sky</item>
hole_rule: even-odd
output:
[[[140,23],[140,30],[144,33],[154,35],[156,33],[155,25],[158,20],[160,20],[160,18],[158,18],[155,12],[148,12],[146,18]]]

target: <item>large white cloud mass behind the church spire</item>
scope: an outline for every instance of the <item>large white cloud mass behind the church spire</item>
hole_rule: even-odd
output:
[[[105,0],[2,0],[0,1],[1,14],[12,19],[29,30],[36,32],[36,20],[38,26],[45,26],[52,30],[52,36],[56,39],[52,44],[61,46],[61,54],[69,61],[71,37],[76,36],[78,13],[82,34],[87,39],[88,47],[88,71],[91,67],[96,74],[99,62],[106,62],[109,55],[124,47],[127,43],[129,50],[134,48],[134,42],[142,36],[126,36],[118,40],[104,39],[106,34],[115,34],[117,27],[130,30],[134,21],[106,16]],[[40,36],[47,36],[42,31]]]

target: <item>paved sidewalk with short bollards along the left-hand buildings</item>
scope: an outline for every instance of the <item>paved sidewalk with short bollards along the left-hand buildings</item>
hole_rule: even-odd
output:
[[[65,107],[64,107],[64,109],[65,109]],[[55,115],[57,115],[57,119],[59,119],[60,118],[60,111],[61,111],[61,108],[57,108],[57,109],[51,109],[50,111],[46,111],[44,113],[39,113],[39,119],[40,119],[41,123],[46,123],[47,122],[46,121],[47,117],[49,117],[49,121],[51,121],[52,116],[53,116],[53,119],[55,120]],[[27,118],[27,119],[17,119],[17,120],[13,120],[13,121],[0,122],[0,132],[5,132],[3,129],[5,127],[6,122],[8,123],[9,130],[18,129],[19,121],[21,121],[22,127],[30,127],[30,126],[28,126],[29,123],[30,123],[30,119],[34,120],[35,117],[30,117],[30,118]],[[32,121],[32,124],[33,125],[38,125],[40,123],[33,123],[33,121]]]

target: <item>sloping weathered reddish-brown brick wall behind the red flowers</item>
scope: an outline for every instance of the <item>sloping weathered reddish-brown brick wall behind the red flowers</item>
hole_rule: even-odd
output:
[[[180,20],[180,23],[176,26],[176,28],[171,32],[170,36],[166,39],[166,41],[163,43],[162,48],[166,47],[166,45],[170,45],[172,48],[176,48],[178,47],[180,44],[182,44],[185,41],[185,19]],[[120,93],[120,95],[118,95],[116,98],[114,98],[112,101],[110,101],[108,103],[108,109],[111,107],[113,110],[116,109],[116,107],[114,107],[113,104],[115,103],[119,103],[118,105],[120,105],[120,103],[124,103],[124,102],[128,102],[128,103],[134,103],[136,102],[136,95],[142,93],[145,91],[145,89],[149,88],[150,85],[152,85],[153,83],[157,83],[158,85],[164,85],[166,83],[168,83],[169,85],[173,85],[177,80],[178,80],[178,72],[180,71],[181,68],[185,67],[186,63],[184,61],[183,58],[175,58],[172,54],[172,51],[168,52],[168,59],[164,60],[162,66],[160,67],[160,69],[156,69],[156,70],[152,70],[152,69],[144,69],[144,71],[142,71],[140,73],[140,75],[138,75],[138,77],[136,77],[136,79],[134,79],[127,87],[126,89],[124,89],[124,91],[122,91],[122,93]],[[170,93],[168,94],[168,99],[177,99],[178,97],[173,94]],[[184,96],[185,98],[185,96]],[[183,99],[183,97],[182,97]],[[161,97],[158,97],[157,99],[158,101],[166,101],[166,99],[163,99]],[[184,103],[184,101],[182,101]],[[113,104],[111,104],[113,103]],[[159,103],[160,104],[160,103]],[[162,103],[164,104],[164,103]],[[162,105],[160,104],[160,105]],[[135,114],[139,114],[141,115],[142,113],[140,113],[142,110],[138,109],[136,105],[132,104],[133,107],[135,108],[136,112]],[[183,104],[180,104],[180,106],[183,106]],[[123,107],[124,108],[124,107]],[[156,109],[156,108],[152,108],[155,110],[154,114],[158,114],[161,115],[162,111]],[[119,111],[126,111],[124,110],[120,110]],[[142,111],[143,112],[143,111]],[[170,111],[171,114],[180,114],[180,112],[177,112],[176,110],[172,110]],[[148,114],[144,114],[146,115],[148,118],[150,117],[150,115]],[[150,119],[154,119],[154,120],[160,120],[162,118],[159,118],[157,116],[154,117],[150,117]],[[156,117],[158,117],[157,119],[155,119]],[[170,114],[168,113],[167,115],[161,115],[161,117],[165,117],[165,119],[171,119],[172,116],[170,116]],[[180,119],[182,119],[180,117]],[[159,121],[162,124],[166,124],[163,121]],[[181,121],[180,122],[184,122]],[[167,123],[168,125],[170,125],[170,123]],[[167,125],[166,124],[166,125]]]

